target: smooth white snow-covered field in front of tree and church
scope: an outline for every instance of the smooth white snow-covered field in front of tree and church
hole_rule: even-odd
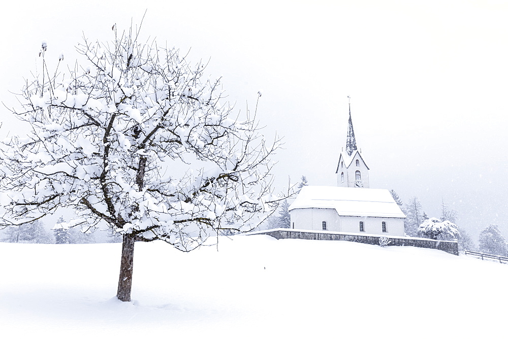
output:
[[[219,238],[182,253],[137,243],[133,302],[114,296],[121,244],[0,243],[0,335],[506,335],[508,265],[437,250]]]

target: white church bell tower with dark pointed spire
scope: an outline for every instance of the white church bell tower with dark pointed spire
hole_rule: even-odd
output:
[[[348,98],[350,98],[348,96]],[[363,160],[361,149],[356,146],[355,130],[351,119],[351,101],[349,103],[349,121],[347,125],[346,147],[340,152],[337,164],[337,186],[369,188],[369,167]]]

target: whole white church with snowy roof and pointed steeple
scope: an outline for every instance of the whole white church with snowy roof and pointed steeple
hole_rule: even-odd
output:
[[[335,186],[304,186],[291,204],[291,228],[404,236],[404,213],[386,189],[369,188],[369,167],[357,149],[351,104],[345,152]]]

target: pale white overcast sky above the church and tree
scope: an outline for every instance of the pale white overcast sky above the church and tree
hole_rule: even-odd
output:
[[[16,101],[47,56],[76,59],[83,33],[111,27],[210,60],[236,107],[256,106],[265,134],[284,137],[275,174],[336,185],[351,96],[370,187],[418,196],[429,216],[441,199],[474,240],[489,223],[508,235],[508,6],[504,1],[33,1],[2,11],[0,100]],[[23,132],[6,109],[0,134]]]

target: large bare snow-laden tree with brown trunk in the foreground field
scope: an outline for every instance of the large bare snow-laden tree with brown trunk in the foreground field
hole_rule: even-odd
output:
[[[228,220],[248,231],[277,208],[279,141],[265,142],[250,112],[224,100],[203,63],[113,30],[111,42],[78,44],[82,59],[66,73],[48,70],[60,58],[43,43],[41,72],[13,109],[30,132],[1,145],[0,201],[3,225],[73,208],[122,234],[117,297],[128,301],[135,241],[190,251]]]

